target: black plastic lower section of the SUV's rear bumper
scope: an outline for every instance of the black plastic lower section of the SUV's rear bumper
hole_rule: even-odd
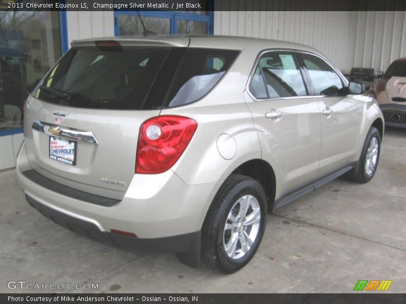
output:
[[[159,252],[189,252],[192,244],[200,240],[200,231],[173,237],[140,239],[110,232],[100,231],[90,222],[66,215],[55,209],[45,206],[35,199],[26,196],[28,203],[44,216],[53,220],[62,227],[77,232],[97,242],[121,248],[124,250],[145,250]]]

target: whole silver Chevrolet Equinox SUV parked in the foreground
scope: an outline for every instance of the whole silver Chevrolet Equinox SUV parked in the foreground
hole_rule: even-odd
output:
[[[369,181],[384,131],[314,49],[221,36],[75,41],[24,114],[31,206],[223,273],[253,257],[267,213],[345,173]]]

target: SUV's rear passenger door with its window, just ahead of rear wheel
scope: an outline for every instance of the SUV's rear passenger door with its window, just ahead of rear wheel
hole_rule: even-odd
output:
[[[246,94],[262,147],[280,182],[277,196],[317,177],[320,109],[309,98],[295,54],[263,53]]]

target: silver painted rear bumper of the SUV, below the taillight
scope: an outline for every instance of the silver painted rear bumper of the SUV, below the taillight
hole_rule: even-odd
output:
[[[88,200],[89,197],[97,199],[95,195],[86,195],[80,191],[73,195],[72,190],[75,189],[63,184],[50,186],[49,176],[47,181],[24,174],[32,169],[23,144],[17,158],[17,176],[31,204],[35,201],[36,206],[42,206],[37,209],[47,208],[64,215],[63,218],[75,219],[75,223],[84,222],[88,230],[91,227],[89,231],[95,239],[107,240],[114,246],[119,245],[117,240],[122,236],[115,236],[112,242],[111,230],[133,233],[138,237],[137,244],[141,245],[132,248],[143,250],[186,250],[188,245],[171,247],[167,238],[175,238],[174,243],[178,243],[178,239],[190,243],[190,236],[201,230],[207,210],[220,186],[220,182],[187,185],[170,170],[154,175],[135,174],[122,200],[97,204]],[[148,249],[149,242],[163,245],[154,245]]]

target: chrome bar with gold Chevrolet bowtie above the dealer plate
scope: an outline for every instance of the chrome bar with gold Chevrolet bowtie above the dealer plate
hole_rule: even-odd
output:
[[[93,132],[90,131],[80,131],[77,129],[62,128],[61,126],[58,125],[52,125],[40,121],[34,121],[32,123],[32,129],[50,136],[58,136],[70,140],[98,144],[97,139],[94,136]]]

